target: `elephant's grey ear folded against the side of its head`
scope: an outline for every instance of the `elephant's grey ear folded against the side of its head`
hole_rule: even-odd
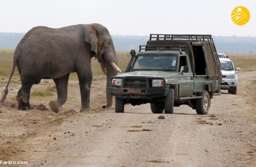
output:
[[[91,45],[91,51],[94,52],[94,57],[97,58],[98,55],[98,38],[96,29],[93,26],[88,26],[85,29],[85,39],[84,41]]]

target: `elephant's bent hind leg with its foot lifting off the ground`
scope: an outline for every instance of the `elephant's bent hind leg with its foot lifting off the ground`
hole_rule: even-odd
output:
[[[59,112],[59,107],[62,106],[67,100],[69,74],[53,80],[57,88],[58,98],[56,101],[50,101],[49,106],[53,112],[57,113]]]

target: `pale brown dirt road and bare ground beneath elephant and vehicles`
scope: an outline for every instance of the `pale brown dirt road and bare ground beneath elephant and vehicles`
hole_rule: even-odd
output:
[[[76,112],[78,82],[69,84],[69,100],[60,113],[18,111],[14,85],[0,108],[0,159],[52,167],[256,166],[256,72],[238,75],[238,94],[215,96],[208,115],[188,106],[175,107],[171,115],[153,114],[150,105],[126,105],[125,113],[101,109],[105,80],[93,82],[87,113]],[[53,82],[33,88],[49,85]],[[54,98],[32,97],[31,103],[48,107]]]

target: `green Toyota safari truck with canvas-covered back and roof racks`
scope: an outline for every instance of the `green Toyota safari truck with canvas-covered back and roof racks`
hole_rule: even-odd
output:
[[[150,103],[153,113],[174,113],[188,105],[207,114],[210,100],[220,95],[220,61],[212,35],[150,34],[139,52],[131,50],[123,74],[111,78],[115,112],[124,105]]]

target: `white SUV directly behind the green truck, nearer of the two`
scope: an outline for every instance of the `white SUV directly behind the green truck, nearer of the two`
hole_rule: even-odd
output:
[[[227,58],[219,58],[220,70],[222,71],[222,83],[220,88],[228,90],[228,93],[236,94],[238,85],[238,76],[236,72],[240,71],[240,68],[235,68],[233,62]]]

